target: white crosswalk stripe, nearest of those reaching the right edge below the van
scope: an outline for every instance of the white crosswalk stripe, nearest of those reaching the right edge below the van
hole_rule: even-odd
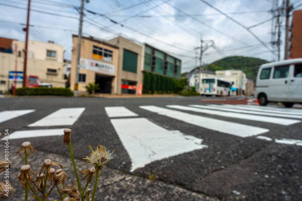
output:
[[[223,116],[223,117],[247,119],[247,120],[252,120],[252,121],[262,121],[262,122],[281,124],[281,125],[286,125],[286,126],[301,122],[299,120],[294,120],[294,119],[266,117],[266,116],[260,116],[260,115],[238,114],[238,113],[234,113],[234,112],[224,112],[224,111],[219,111],[219,110],[192,108],[192,107],[187,107],[187,106],[182,106],[182,105],[167,105],[166,107],[201,112],[201,113],[210,114],[210,115],[214,115],[214,116],[218,115],[218,116]]]

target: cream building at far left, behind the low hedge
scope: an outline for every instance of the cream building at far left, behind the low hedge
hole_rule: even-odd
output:
[[[17,55],[15,45],[17,45]],[[23,73],[24,48],[24,42],[0,37],[0,91],[2,93],[9,90],[11,84],[14,84],[14,80],[9,79],[9,71],[15,71],[16,56],[17,71]],[[53,87],[65,87],[63,54],[63,46],[56,45],[52,41],[29,40],[27,76],[39,77],[39,83],[50,83]],[[22,87],[22,80],[17,81],[18,87]]]

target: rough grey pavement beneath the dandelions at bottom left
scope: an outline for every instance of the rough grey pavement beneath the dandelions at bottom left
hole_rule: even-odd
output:
[[[3,141],[2,141],[3,142]],[[58,145],[61,146],[61,145]],[[10,146],[10,160],[12,162],[12,168],[9,170],[9,181],[12,182],[11,186],[16,188],[14,189],[14,194],[9,198],[11,201],[20,201],[24,200],[24,189],[17,179],[17,175],[20,173],[20,167],[24,165],[24,159],[19,157],[19,155],[14,155],[18,152],[19,147]],[[68,151],[68,148],[66,147]],[[88,153],[87,153],[88,155]],[[24,156],[23,156],[24,157]],[[65,182],[69,187],[71,187],[71,181],[75,178],[71,159],[48,152],[37,151],[37,155],[34,154],[33,159],[28,157],[28,165],[31,166],[31,169],[34,172],[39,172],[40,168],[43,165],[45,159],[51,159],[54,162],[57,162],[63,165],[63,171],[66,172],[68,180]],[[3,160],[2,158],[0,159]],[[77,171],[83,169],[88,169],[83,160],[76,159]],[[52,166],[52,168],[59,169],[59,167]],[[198,193],[193,193],[189,190],[183,189],[179,186],[172,184],[165,184],[162,181],[149,180],[143,177],[138,177],[136,175],[130,175],[121,173],[118,170],[104,168],[104,176],[99,175],[98,178],[98,187],[95,197],[95,201],[117,201],[117,200],[144,200],[144,201],[153,201],[153,200],[210,200],[218,201],[218,199],[210,198]],[[79,175],[80,177],[81,175]],[[4,180],[4,174],[0,174],[1,182]],[[82,181],[80,177],[80,181]],[[48,182],[47,182],[48,183]],[[75,184],[75,182],[73,183]],[[82,186],[85,185],[85,181],[82,182]],[[62,186],[60,185],[60,188]],[[93,185],[88,185],[88,188],[93,189]],[[49,190],[49,189],[48,189]],[[47,190],[47,192],[48,192]],[[47,200],[54,201],[60,200],[57,196],[57,191],[53,190]],[[28,195],[28,200],[33,201],[32,193]],[[38,193],[38,195],[40,195]],[[91,197],[90,197],[91,198]]]

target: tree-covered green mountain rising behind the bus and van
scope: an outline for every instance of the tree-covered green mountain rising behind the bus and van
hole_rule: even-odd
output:
[[[229,69],[242,70],[246,74],[246,77],[253,78],[255,80],[259,65],[267,62],[268,61],[254,57],[231,56],[209,64],[207,70],[213,72],[217,70]],[[193,69],[191,72],[194,70],[195,69]]]

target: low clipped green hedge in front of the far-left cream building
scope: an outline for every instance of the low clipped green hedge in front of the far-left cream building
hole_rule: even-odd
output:
[[[69,88],[23,87],[16,89],[17,96],[72,96]]]

